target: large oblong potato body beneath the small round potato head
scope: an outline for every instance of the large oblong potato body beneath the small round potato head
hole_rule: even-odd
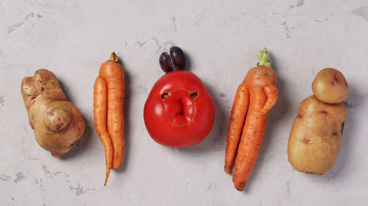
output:
[[[298,171],[324,174],[336,160],[346,118],[340,103],[324,103],[311,95],[299,106],[291,128],[289,162]]]

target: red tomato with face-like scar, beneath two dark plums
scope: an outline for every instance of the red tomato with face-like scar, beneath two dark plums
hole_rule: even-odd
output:
[[[215,105],[201,79],[187,70],[163,75],[144,108],[146,128],[165,146],[184,147],[202,141],[213,125]]]

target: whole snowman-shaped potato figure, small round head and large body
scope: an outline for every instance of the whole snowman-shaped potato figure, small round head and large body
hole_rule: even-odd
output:
[[[291,127],[288,156],[296,170],[324,174],[338,154],[346,119],[342,101],[349,86],[340,71],[324,68],[314,78],[312,90],[314,95],[300,103]]]

